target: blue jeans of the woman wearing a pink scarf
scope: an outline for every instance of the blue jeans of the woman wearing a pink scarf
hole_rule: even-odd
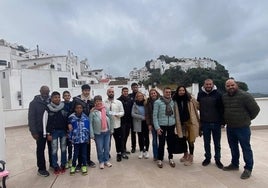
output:
[[[110,131],[95,134],[95,143],[99,163],[109,161],[110,137]]]

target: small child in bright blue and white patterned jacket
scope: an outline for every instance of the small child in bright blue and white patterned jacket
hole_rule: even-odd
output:
[[[87,144],[89,142],[89,118],[83,113],[83,106],[76,103],[74,113],[69,116],[68,128],[70,131],[70,140],[73,143],[73,161],[70,170],[70,175],[75,174],[76,161],[78,154],[81,154],[82,159],[82,174],[87,174]]]

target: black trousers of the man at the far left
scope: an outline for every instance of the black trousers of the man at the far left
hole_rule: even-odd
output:
[[[38,170],[46,170],[45,149],[46,144],[48,147],[49,165],[52,166],[52,148],[51,141],[47,141],[47,138],[43,137],[43,133],[38,133],[38,139],[36,140],[36,158]]]

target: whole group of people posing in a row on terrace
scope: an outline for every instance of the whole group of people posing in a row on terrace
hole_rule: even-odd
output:
[[[241,179],[251,176],[253,152],[250,145],[250,124],[259,113],[259,106],[247,92],[238,88],[234,79],[225,83],[226,93],[221,94],[212,79],[206,79],[197,99],[188,93],[185,86],[178,86],[175,93],[169,87],[161,96],[156,89],[149,91],[147,98],[132,83],[132,93],[127,87],[115,99],[113,88],[107,89],[107,99],[96,95],[90,97],[90,86],[82,86],[82,94],[73,98],[68,91],[63,93],[61,102],[57,91],[49,95],[49,88],[42,86],[40,95],[35,96],[29,106],[29,127],[36,140],[38,174],[48,176],[44,150],[48,145],[49,164],[55,174],[64,173],[70,168],[70,175],[81,170],[87,174],[87,166],[95,167],[91,161],[91,139],[96,143],[99,168],[112,167],[110,162],[111,138],[114,138],[116,161],[128,159],[136,152],[138,135],[138,158],[149,158],[150,137],[152,134],[153,160],[163,168],[165,143],[168,160],[173,160],[174,145],[181,145],[183,153],[180,162],[185,166],[193,164],[194,143],[203,136],[205,159],[203,166],[211,163],[211,137],[215,150],[215,164],[225,171],[239,169],[239,145],[245,162]],[[221,129],[227,126],[228,144],[231,149],[230,165],[221,163]],[[127,150],[127,140],[131,135],[131,151]],[[179,138],[180,142],[177,142]],[[58,164],[58,143],[61,149],[61,164]],[[78,160],[78,164],[77,163]]]

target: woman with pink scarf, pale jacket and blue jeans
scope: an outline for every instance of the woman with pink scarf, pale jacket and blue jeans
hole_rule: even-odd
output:
[[[111,127],[110,119],[106,115],[106,109],[100,95],[94,97],[94,104],[95,107],[90,113],[90,137],[95,139],[99,167],[104,169],[104,166],[112,167],[109,162],[109,151],[113,127]]]

